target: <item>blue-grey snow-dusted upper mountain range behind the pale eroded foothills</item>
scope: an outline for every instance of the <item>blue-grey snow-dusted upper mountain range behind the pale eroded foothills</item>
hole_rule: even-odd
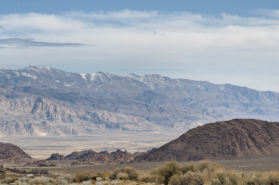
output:
[[[236,117],[279,119],[278,93],[156,74],[123,77],[104,72],[79,74],[29,66],[0,70],[0,84],[0,94],[12,99],[31,94],[83,112],[108,111],[109,121],[121,120],[121,114],[128,122],[133,121],[129,119],[133,116],[139,118],[137,121],[142,120],[142,124],[146,120],[158,126],[188,129],[197,122],[206,124]],[[54,113],[52,109],[46,114]],[[112,119],[116,114],[118,119]],[[115,122],[110,126],[124,128]]]

